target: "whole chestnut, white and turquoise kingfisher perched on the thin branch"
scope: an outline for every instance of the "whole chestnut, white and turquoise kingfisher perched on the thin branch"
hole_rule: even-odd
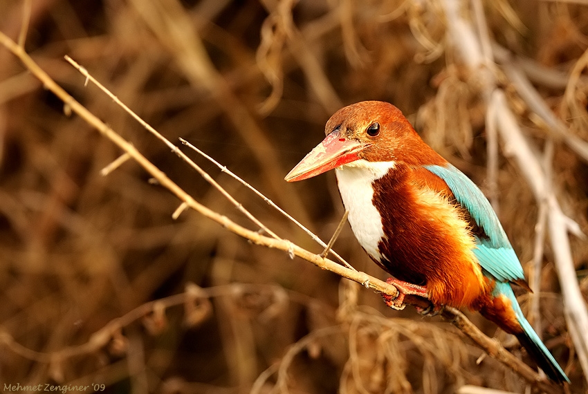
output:
[[[327,135],[285,177],[335,170],[353,234],[405,296],[481,313],[515,335],[546,376],[569,383],[526,320],[512,285],[531,291],[488,199],[426,144],[396,106],[364,101],[334,113]]]

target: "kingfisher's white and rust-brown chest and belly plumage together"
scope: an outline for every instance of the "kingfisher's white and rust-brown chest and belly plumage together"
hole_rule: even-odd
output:
[[[468,224],[447,198],[398,179],[392,162],[358,161],[338,169],[337,180],[353,234],[374,261],[417,284],[449,283],[462,272],[481,278]]]

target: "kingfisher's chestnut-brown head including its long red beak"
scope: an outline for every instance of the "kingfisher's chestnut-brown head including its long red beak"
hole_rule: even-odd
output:
[[[286,175],[304,180],[357,160],[407,161],[422,142],[402,112],[392,104],[358,102],[337,111],[324,127],[322,140]],[[425,147],[427,147],[425,145]]]

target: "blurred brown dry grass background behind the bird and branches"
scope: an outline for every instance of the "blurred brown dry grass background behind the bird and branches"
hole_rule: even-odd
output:
[[[446,50],[436,1],[37,0],[30,6],[25,47],[35,61],[211,209],[248,225],[112,100],[84,87],[64,55],[169,140],[184,138],[207,152],[324,240],[342,215],[333,176],[295,185],[282,178],[321,140],[324,122],[340,106],[392,102],[499,203],[529,272],[538,205],[502,153],[497,178],[488,182],[482,93],[476,75]],[[588,7],[500,0],[485,2],[484,11],[491,37],[522,59],[517,64],[569,133],[586,139]],[[0,31],[17,39],[22,21],[23,2],[0,2]],[[586,161],[546,131],[507,78],[498,82],[527,137],[541,149],[553,147],[553,188],[586,233]],[[120,153],[80,118],[64,115],[62,102],[0,49],[3,391],[5,383],[52,382],[104,384],[113,393],[451,393],[464,384],[524,392],[515,373],[481,357],[448,323],[418,317],[412,308],[388,310],[377,294],[251,245],[194,212],[172,220],[178,200],[149,184],[134,162],[100,175]],[[322,250],[245,187],[187,153],[279,236]],[[571,242],[586,292],[588,245]],[[567,333],[553,253],[548,242],[540,245],[538,319],[572,391],[580,393],[586,379]],[[335,250],[358,270],[385,278],[348,227]],[[138,319],[111,322],[109,344],[92,346],[93,333],[135,308],[143,308]],[[471,319],[526,359],[516,341]],[[63,352],[84,344],[74,356]]]

